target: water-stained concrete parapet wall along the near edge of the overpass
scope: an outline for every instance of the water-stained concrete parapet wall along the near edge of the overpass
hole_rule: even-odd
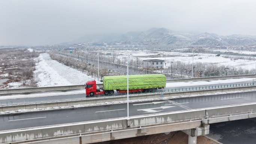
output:
[[[204,124],[256,117],[256,104],[241,104],[204,110],[43,126],[0,131],[0,143],[70,144],[96,143],[142,135],[199,128]]]

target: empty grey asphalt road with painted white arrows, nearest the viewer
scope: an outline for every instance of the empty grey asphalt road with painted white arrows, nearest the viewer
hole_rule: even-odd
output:
[[[208,108],[231,104],[256,102],[256,92],[208,95],[190,98],[166,99],[129,103],[129,115],[164,113],[186,109]],[[0,131],[64,123],[86,122],[127,116],[127,104],[98,105],[55,111],[0,116]]]

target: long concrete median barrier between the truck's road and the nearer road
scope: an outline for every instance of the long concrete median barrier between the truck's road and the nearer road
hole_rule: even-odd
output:
[[[232,87],[232,88],[220,88],[220,89],[201,89],[197,91],[180,91],[180,92],[158,92],[151,94],[134,94],[129,95],[129,100],[138,100],[138,99],[153,99],[170,96],[185,96],[185,95],[196,95],[196,94],[209,94],[216,92],[230,92],[230,91],[241,91],[241,90],[250,90],[256,89],[254,86],[243,86],[243,87]],[[69,101],[57,101],[57,102],[42,102],[37,104],[19,104],[19,105],[3,105],[0,106],[0,111],[16,111],[20,109],[34,109],[34,108],[47,108],[47,107],[62,107],[62,106],[73,106],[73,105],[85,105],[85,104],[97,104],[97,103],[106,103],[106,102],[115,102],[115,101],[127,101],[127,96],[104,96],[99,98],[85,98],[85,99],[75,99]]]

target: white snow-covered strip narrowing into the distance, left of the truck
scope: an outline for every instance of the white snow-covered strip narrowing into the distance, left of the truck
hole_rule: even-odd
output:
[[[34,71],[39,87],[84,85],[87,81],[95,79],[52,60],[47,53],[43,53],[39,57],[41,61],[36,65]],[[100,82],[97,81],[97,83]]]

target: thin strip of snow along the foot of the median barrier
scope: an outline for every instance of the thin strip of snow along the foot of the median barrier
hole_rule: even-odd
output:
[[[169,97],[165,97],[165,98],[130,100],[129,102],[132,103],[132,102],[144,102],[144,101],[157,101],[157,100],[164,100],[164,99],[187,98],[187,97],[206,96],[206,95],[234,94],[234,93],[255,92],[255,91],[256,91],[256,89],[244,90],[244,91],[232,91],[232,92],[216,92],[216,93],[209,93],[209,94],[169,96]],[[25,113],[25,112],[29,112],[29,111],[56,110],[56,109],[65,109],[65,108],[91,107],[91,106],[97,106],[97,105],[124,104],[124,103],[127,103],[127,101],[113,101],[113,102],[104,102],[104,103],[97,103],[97,104],[84,104],[84,105],[79,104],[79,105],[63,106],[63,107],[34,108],[32,110],[21,109],[21,110],[15,110],[15,111],[3,111],[3,112],[0,112],[0,114]]]

